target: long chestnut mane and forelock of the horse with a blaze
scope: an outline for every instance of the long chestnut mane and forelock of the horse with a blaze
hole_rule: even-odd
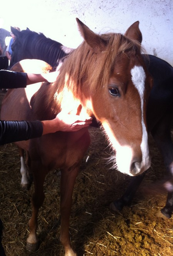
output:
[[[87,42],[83,41],[65,58],[59,69],[57,81],[47,97],[48,104],[55,98],[54,109],[57,103],[61,102],[64,87],[72,90],[77,98],[81,98],[84,80],[87,82],[87,90],[96,90],[108,82],[116,61],[121,59],[123,54],[128,54],[130,58],[136,52],[141,52],[141,45],[137,41],[132,41],[119,33],[103,34],[100,40],[106,41],[104,51],[93,52]]]

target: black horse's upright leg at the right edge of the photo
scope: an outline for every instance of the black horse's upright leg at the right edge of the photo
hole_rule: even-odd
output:
[[[173,143],[171,140],[171,117],[171,114],[168,112],[155,126],[155,129],[151,131],[166,166],[166,181],[163,183],[163,186],[168,191],[168,197],[166,205],[161,212],[168,218],[171,217],[173,212]]]

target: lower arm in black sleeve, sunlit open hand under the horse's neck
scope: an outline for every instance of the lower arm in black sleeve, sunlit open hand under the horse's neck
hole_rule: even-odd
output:
[[[91,117],[60,112],[55,119],[46,121],[0,121],[0,145],[26,141],[57,131],[78,131],[91,124]]]

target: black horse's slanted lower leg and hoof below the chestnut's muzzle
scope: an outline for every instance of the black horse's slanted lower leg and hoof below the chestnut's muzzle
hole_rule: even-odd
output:
[[[132,180],[128,185],[128,188],[126,189],[122,197],[111,203],[110,207],[112,210],[121,211],[125,205],[127,206],[131,205],[131,201],[136,193],[136,190],[140,186],[144,176],[145,176],[145,173],[142,173],[139,176],[132,177]]]

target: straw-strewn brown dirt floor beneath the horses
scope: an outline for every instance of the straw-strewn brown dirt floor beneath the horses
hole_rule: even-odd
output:
[[[2,93],[0,97],[3,98]],[[131,207],[113,212],[109,204],[122,195],[130,177],[111,170],[106,164],[110,150],[100,129],[91,128],[90,134],[91,146],[77,177],[70,219],[72,245],[78,256],[172,256],[173,217],[158,216],[165,205],[166,195],[143,192],[146,184],[160,180],[165,172],[152,138],[152,166]],[[37,253],[25,250],[33,186],[29,191],[23,191],[20,180],[17,147],[14,144],[0,146],[0,218],[4,225],[2,238],[7,256],[63,256],[59,241],[58,170],[53,170],[45,181],[46,197],[38,217],[40,248]]]

